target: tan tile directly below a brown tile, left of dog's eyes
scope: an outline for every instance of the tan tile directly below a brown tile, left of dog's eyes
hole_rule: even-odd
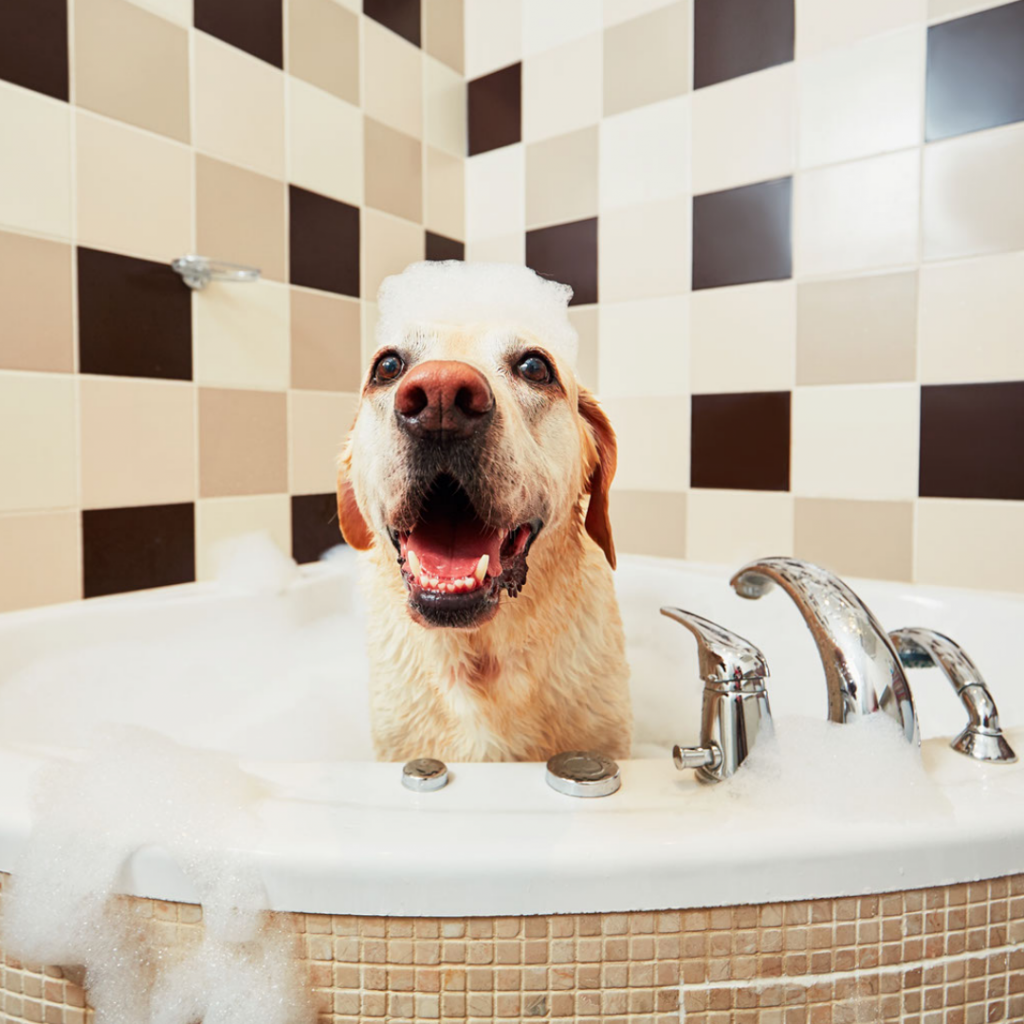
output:
[[[292,387],[358,391],[362,386],[359,303],[292,289]]]

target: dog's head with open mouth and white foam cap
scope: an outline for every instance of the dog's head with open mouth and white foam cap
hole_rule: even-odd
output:
[[[381,287],[338,480],[345,540],[394,547],[413,617],[471,629],[535,545],[584,528],[614,566],[615,439],[573,372],[571,291],[521,266],[419,263]]]

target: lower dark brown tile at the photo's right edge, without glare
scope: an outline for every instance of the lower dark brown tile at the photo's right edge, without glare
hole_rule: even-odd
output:
[[[1024,382],[921,389],[923,498],[1024,500]]]

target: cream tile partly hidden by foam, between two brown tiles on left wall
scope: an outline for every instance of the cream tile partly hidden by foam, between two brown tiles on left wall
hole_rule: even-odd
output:
[[[204,498],[196,503],[196,579],[214,580],[231,542],[265,534],[281,551],[292,554],[292,510],[288,495],[253,498]]]

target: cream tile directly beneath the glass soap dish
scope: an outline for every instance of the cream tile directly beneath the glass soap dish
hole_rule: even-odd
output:
[[[284,390],[290,375],[289,288],[214,282],[193,296],[195,380]]]

